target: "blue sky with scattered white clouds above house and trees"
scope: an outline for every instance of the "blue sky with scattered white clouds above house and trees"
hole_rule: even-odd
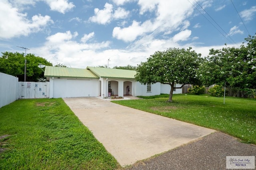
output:
[[[0,23],[1,52],[26,47],[72,68],[136,66],[170,47],[202,56],[239,47],[256,33],[256,1],[1,0]]]

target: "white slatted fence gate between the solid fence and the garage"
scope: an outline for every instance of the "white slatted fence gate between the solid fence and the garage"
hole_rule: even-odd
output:
[[[18,98],[49,98],[49,82],[18,82]]]

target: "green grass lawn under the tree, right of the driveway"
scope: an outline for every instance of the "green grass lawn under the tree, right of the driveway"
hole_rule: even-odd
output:
[[[112,101],[116,104],[215,129],[245,143],[256,144],[256,100],[195,95],[168,95],[143,97],[142,100]]]

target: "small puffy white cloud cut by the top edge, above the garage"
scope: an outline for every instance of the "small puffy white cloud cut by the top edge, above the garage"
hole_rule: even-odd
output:
[[[68,2],[68,0],[44,0],[53,11],[58,11],[62,14],[72,10],[75,7],[73,2]]]

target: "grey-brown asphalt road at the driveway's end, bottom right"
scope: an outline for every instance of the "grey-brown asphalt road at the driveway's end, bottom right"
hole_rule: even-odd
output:
[[[128,170],[227,170],[226,156],[256,156],[256,145],[240,143],[230,135],[215,132],[137,162]]]

